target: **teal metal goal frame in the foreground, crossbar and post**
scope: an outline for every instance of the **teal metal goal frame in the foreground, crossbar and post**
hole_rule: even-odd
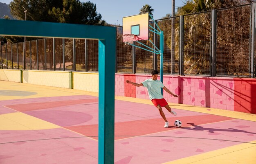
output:
[[[116,28],[109,26],[0,19],[0,35],[99,39],[98,163],[113,164]]]

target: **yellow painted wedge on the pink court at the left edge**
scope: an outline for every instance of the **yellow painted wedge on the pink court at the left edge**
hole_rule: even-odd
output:
[[[0,115],[0,130],[42,130],[54,128],[61,127],[20,112]]]

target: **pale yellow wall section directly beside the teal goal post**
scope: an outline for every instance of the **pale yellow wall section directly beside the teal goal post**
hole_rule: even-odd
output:
[[[99,73],[72,72],[73,89],[99,92]]]

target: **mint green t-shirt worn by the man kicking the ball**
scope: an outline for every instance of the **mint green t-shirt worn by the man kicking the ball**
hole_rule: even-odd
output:
[[[164,98],[161,94],[161,88],[164,87],[164,84],[159,80],[146,79],[142,82],[143,86],[148,89],[148,95],[150,100],[157,98]]]

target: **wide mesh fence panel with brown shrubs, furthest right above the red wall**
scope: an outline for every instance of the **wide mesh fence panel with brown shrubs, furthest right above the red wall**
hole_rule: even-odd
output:
[[[216,76],[250,76],[251,5],[216,10]]]

